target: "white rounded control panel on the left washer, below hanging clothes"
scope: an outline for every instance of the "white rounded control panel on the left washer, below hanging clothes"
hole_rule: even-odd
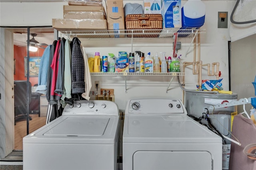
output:
[[[62,115],[113,115],[118,116],[119,110],[116,103],[112,101],[74,101],[73,105],[68,104]]]

